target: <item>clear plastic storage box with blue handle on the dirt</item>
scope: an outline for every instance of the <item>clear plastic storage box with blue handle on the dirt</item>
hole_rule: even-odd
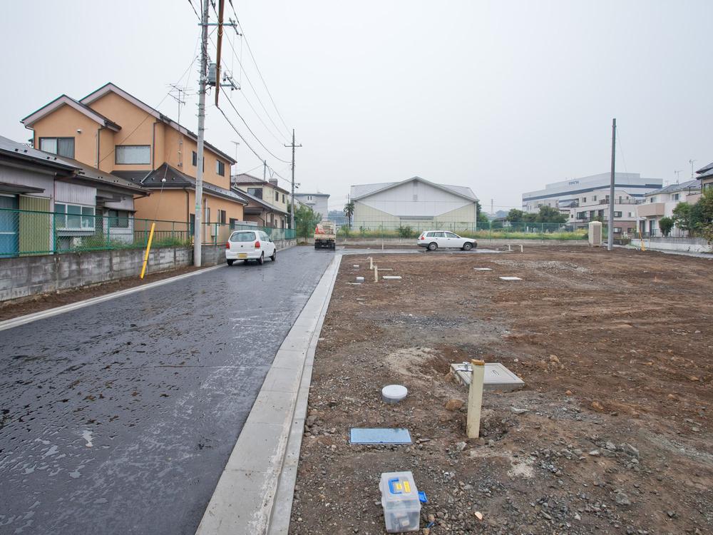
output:
[[[384,472],[379,481],[381,506],[388,533],[418,531],[421,501],[411,472]]]

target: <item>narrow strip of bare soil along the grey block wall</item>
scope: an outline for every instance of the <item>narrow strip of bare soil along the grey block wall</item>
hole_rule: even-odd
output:
[[[88,286],[81,286],[73,290],[66,290],[58,293],[47,293],[42,295],[34,295],[32,297],[23,297],[22,299],[12,300],[11,302],[0,303],[0,321],[10,320],[13,317],[24,316],[34,312],[41,312],[62,305],[69,305],[73,302],[99,297],[111,292],[126,290],[135,286],[148,284],[168,277],[183,275],[198,270],[200,267],[181,267],[178,270],[162,271],[159,273],[148,273],[141,280],[138,275],[125,279],[113,280],[111,282],[103,282]]]

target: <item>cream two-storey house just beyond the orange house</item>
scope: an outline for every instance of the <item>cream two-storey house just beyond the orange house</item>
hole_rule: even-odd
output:
[[[247,173],[233,175],[232,189],[245,197],[245,220],[271,228],[287,228],[289,225],[289,191],[280,188],[277,178],[262,180]]]

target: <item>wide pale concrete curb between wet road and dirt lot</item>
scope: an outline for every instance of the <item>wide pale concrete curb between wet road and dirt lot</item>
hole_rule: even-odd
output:
[[[279,347],[196,535],[287,533],[314,350],[341,261],[335,255]]]

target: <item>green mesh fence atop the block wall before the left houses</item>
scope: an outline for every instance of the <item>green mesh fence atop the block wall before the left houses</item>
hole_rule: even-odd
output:
[[[152,248],[193,245],[194,228],[185,221],[137,219],[125,212],[111,215],[111,211],[93,215],[93,208],[67,209],[68,213],[0,208],[0,258],[145,248],[153,223]],[[291,229],[244,223],[202,223],[201,228],[201,242],[206,245],[227,242],[233,230],[262,230],[272,240],[289,240],[295,235]]]

